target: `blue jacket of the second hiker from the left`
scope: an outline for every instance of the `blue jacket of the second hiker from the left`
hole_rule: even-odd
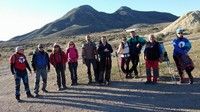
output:
[[[32,58],[32,67],[34,70],[37,68],[47,68],[50,70],[49,55],[46,52],[36,51]]]

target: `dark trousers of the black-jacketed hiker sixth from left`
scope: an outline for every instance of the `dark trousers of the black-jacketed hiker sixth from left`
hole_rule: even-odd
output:
[[[100,59],[99,65],[99,82],[103,83],[104,81],[104,74],[105,74],[105,81],[110,82],[110,74],[111,74],[111,67],[112,67],[112,60],[110,57],[105,59]]]

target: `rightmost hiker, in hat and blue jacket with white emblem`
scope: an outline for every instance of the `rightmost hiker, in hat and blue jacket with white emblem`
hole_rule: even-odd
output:
[[[180,83],[185,83],[183,76],[183,71],[185,70],[189,76],[190,84],[193,84],[193,76],[191,72],[194,69],[194,66],[192,60],[188,56],[188,52],[192,46],[190,41],[184,37],[183,32],[184,30],[182,28],[176,30],[177,37],[173,40],[173,58],[180,75]]]

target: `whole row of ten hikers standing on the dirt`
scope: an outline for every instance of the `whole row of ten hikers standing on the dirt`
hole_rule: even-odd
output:
[[[193,77],[191,71],[194,69],[193,63],[190,57],[187,55],[191,49],[191,43],[187,38],[183,36],[183,30],[177,29],[177,37],[173,40],[173,58],[179,71],[181,83],[184,83],[183,70],[186,70],[190,84],[193,83]],[[95,42],[91,40],[90,35],[86,36],[86,42],[82,45],[82,61],[87,66],[88,84],[99,83],[100,85],[109,85],[111,81],[111,68],[113,53],[112,46],[108,43],[106,36],[102,36],[101,40],[96,46]],[[146,41],[143,37],[136,35],[133,30],[130,32],[130,36],[127,38],[125,35],[122,37],[122,41],[119,44],[117,54],[121,57],[121,70],[125,74],[126,78],[133,78],[132,72],[135,77],[138,77],[137,66],[139,63],[139,56],[142,47],[144,49],[144,59],[146,65],[146,84],[156,84],[159,77],[159,62],[162,62],[163,52],[159,42],[153,34],[149,36],[149,40]],[[15,53],[10,57],[11,72],[15,77],[15,96],[17,101],[20,99],[20,82],[23,80],[25,91],[28,98],[39,96],[39,83],[42,78],[42,91],[48,92],[47,87],[47,74],[50,71],[50,64],[53,65],[57,76],[58,90],[64,90],[67,88],[65,71],[66,64],[71,74],[71,86],[78,85],[77,67],[79,53],[76,45],[73,41],[68,43],[66,51],[61,49],[61,46],[57,43],[53,45],[53,50],[50,55],[44,50],[44,45],[39,44],[32,56],[32,68],[36,73],[35,88],[33,96],[29,89],[28,72],[32,74],[31,67],[28,64],[26,56],[24,55],[24,48],[18,46],[15,49]],[[131,67],[130,67],[131,63]],[[92,80],[91,65],[94,71],[94,81]],[[152,78],[153,77],[153,78]]]

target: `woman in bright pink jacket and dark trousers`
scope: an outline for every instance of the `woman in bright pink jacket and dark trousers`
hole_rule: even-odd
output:
[[[66,51],[66,57],[69,65],[69,71],[71,74],[71,86],[78,85],[77,83],[77,67],[78,67],[78,50],[76,48],[76,45],[73,41],[70,41],[68,43],[68,48]]]

